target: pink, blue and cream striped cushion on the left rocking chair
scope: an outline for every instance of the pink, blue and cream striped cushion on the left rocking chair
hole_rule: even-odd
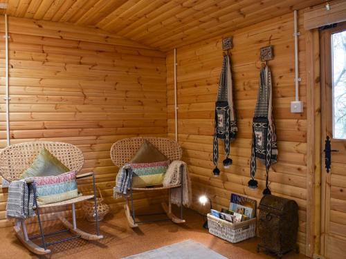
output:
[[[75,180],[76,174],[76,171],[71,171],[56,176],[33,178],[36,186],[37,204],[62,202],[80,196]]]

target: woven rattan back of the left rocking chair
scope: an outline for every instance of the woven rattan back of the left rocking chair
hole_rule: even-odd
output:
[[[71,171],[80,171],[84,164],[82,151],[73,144],[63,142],[24,142],[0,151],[0,175],[12,182],[33,163],[42,148],[46,148]]]

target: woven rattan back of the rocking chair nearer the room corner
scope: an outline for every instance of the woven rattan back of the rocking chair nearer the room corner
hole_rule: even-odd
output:
[[[144,140],[148,140],[161,153],[163,153],[169,160],[181,159],[181,147],[174,140],[170,140],[164,137],[129,137],[123,140],[119,140],[111,147],[111,160],[113,164],[118,167],[123,166],[136,154],[140,145]]]

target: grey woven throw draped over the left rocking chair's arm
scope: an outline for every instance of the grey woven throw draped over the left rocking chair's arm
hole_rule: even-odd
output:
[[[16,180],[8,186],[6,218],[24,220],[35,215],[33,185],[29,181],[30,178]]]

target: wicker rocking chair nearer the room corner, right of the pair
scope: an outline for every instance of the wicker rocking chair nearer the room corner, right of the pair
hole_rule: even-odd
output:
[[[113,161],[113,164],[115,164],[116,166],[120,168],[124,164],[129,162],[129,160],[131,160],[131,158],[138,151],[138,148],[140,148],[140,146],[143,144],[144,140],[148,140],[150,143],[156,146],[156,148],[158,148],[158,150],[161,151],[161,153],[163,153],[170,160],[170,162],[181,159],[181,154],[182,154],[181,147],[174,140],[169,140],[163,137],[130,137],[123,140],[119,140],[118,142],[114,143],[113,146],[111,147],[111,160]],[[180,173],[182,174],[182,170],[180,171]],[[181,181],[183,181],[182,176],[180,179]],[[144,186],[140,188],[137,188],[137,187],[132,188],[131,186],[131,188],[129,189],[129,197],[127,197],[126,204],[124,205],[125,214],[126,214],[127,221],[129,222],[129,226],[134,228],[134,227],[138,227],[138,224],[140,223],[161,221],[161,220],[136,221],[133,191],[156,191],[156,190],[165,190],[165,189],[168,190],[168,205],[166,202],[162,202],[161,205],[163,207],[163,210],[165,211],[164,214],[166,214],[168,217],[167,220],[172,220],[172,222],[176,224],[185,223],[185,220],[183,220],[183,202],[181,202],[180,218],[176,217],[176,215],[172,213],[170,191],[173,188],[181,188],[181,199],[183,199],[183,182],[174,186],[161,185],[161,186],[154,186],[154,187]],[[130,202],[131,202],[131,209],[129,205]]]

